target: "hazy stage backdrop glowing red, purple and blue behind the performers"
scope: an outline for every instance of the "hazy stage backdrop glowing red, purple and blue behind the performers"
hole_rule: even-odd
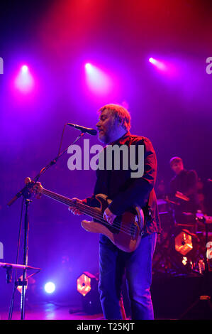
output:
[[[181,156],[186,168],[196,170],[209,194],[211,214],[207,179],[212,178],[212,74],[206,72],[206,58],[212,57],[211,1],[1,1],[0,7],[2,262],[16,261],[21,214],[21,199],[11,208],[6,203],[23,187],[26,176],[33,178],[55,158],[65,123],[95,128],[96,110],[106,103],[128,107],[131,132],[152,141],[157,185],[164,180],[168,192],[172,156]],[[157,70],[150,57],[171,63],[176,72]],[[35,80],[29,95],[13,87],[23,63]],[[112,90],[89,90],[85,63],[106,72]],[[78,134],[66,127],[62,149]],[[90,145],[100,144],[94,136],[85,138]],[[68,158],[62,156],[40,181],[69,198],[85,198],[92,193],[95,172],[69,171]],[[42,268],[33,277],[32,298],[49,298],[43,286],[54,281],[51,298],[79,303],[77,277],[99,270],[99,237],[84,231],[81,220],[49,198],[30,204],[28,264]],[[5,280],[1,269],[1,306],[9,306],[11,298],[12,286]]]

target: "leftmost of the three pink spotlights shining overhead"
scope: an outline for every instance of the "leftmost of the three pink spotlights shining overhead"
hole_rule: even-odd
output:
[[[30,74],[28,65],[21,66],[14,83],[15,87],[23,93],[28,93],[33,89],[35,82],[33,76]]]

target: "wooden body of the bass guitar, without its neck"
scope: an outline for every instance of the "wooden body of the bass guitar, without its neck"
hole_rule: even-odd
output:
[[[88,232],[101,233],[106,235],[113,244],[123,252],[133,252],[140,244],[144,226],[143,210],[136,206],[132,210],[126,211],[123,215],[116,217],[112,225],[103,221],[104,210],[111,203],[104,194],[96,195],[96,200],[100,203],[100,208],[95,208],[99,212],[100,219],[92,221],[83,220],[81,225]]]

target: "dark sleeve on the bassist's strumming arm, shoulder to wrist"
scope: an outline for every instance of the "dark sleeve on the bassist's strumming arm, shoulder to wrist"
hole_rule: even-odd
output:
[[[144,173],[140,178],[130,178],[130,185],[113,199],[108,208],[114,215],[122,215],[133,205],[145,206],[157,175],[157,158],[150,139],[138,141],[144,145]]]

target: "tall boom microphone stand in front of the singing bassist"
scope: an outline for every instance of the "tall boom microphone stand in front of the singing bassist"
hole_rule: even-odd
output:
[[[79,134],[79,136],[77,136],[77,139],[75,139],[71,145],[76,143],[76,141],[78,141],[79,138],[84,136],[84,134],[86,134],[86,131],[82,131],[81,134]],[[42,168],[40,170],[40,172],[38,173],[38,175],[35,176],[35,178],[33,178],[33,181],[31,181],[30,178],[26,178],[25,179],[25,183],[26,183],[25,187],[23,189],[21,189],[7,204],[10,207],[21,196],[23,196],[23,198],[25,199],[26,212],[25,212],[25,219],[24,219],[24,246],[23,246],[23,265],[24,265],[24,269],[23,269],[23,279],[21,281],[21,286],[22,286],[22,291],[21,291],[21,320],[24,320],[24,318],[25,318],[26,285],[27,285],[26,270],[27,270],[27,266],[28,266],[28,231],[29,231],[28,208],[29,208],[30,203],[32,202],[32,200],[30,200],[30,196],[31,196],[30,189],[33,188],[33,185],[36,182],[38,182],[40,176],[43,175],[45,173],[45,171],[48,170],[48,168],[50,168],[51,166],[55,165],[55,163],[57,163],[57,160],[60,158],[60,156],[62,156],[65,152],[67,152],[68,148],[69,148],[69,146],[64,151],[62,151],[61,153],[58,153],[57,156],[52,161],[50,161],[50,163],[48,163],[47,166]],[[20,285],[20,282],[18,282],[18,283],[19,284],[17,284],[17,282],[15,281],[15,283],[14,283],[15,286]],[[15,289],[14,289],[14,291],[15,291]],[[12,313],[11,313],[11,310],[10,310],[10,317],[11,317],[11,314]]]

